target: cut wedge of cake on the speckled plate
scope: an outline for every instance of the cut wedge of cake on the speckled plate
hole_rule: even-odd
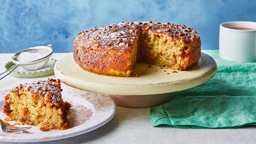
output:
[[[21,124],[38,125],[39,130],[65,130],[71,104],[61,96],[59,79],[20,84],[5,96],[3,112]]]

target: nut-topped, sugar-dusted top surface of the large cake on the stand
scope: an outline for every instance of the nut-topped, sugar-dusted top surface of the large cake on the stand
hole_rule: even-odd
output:
[[[198,31],[185,25],[170,22],[137,21],[120,22],[118,25],[100,26],[91,30],[85,30],[75,38],[74,45],[88,49],[126,49],[131,50],[138,38],[138,31],[153,31],[173,37],[178,41],[190,43],[199,38]]]

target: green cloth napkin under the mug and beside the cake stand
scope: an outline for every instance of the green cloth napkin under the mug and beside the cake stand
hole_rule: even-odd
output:
[[[170,102],[149,111],[153,126],[225,128],[256,125],[256,62],[231,62],[218,50],[204,50],[218,65],[203,85],[175,92]]]

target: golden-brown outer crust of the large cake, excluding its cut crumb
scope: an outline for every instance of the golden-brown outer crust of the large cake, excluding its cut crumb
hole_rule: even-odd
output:
[[[178,68],[166,68],[186,70],[201,55],[201,39],[196,30],[169,22],[137,21],[82,31],[73,43],[74,60],[84,70],[92,73],[130,76],[134,65],[131,55],[134,54],[134,47],[139,45],[140,33],[145,31],[167,35],[171,41],[177,41],[186,48],[182,50],[186,62],[182,62]]]

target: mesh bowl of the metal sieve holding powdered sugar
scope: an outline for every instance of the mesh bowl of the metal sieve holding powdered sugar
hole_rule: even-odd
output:
[[[37,70],[46,65],[52,53],[51,44],[47,46],[35,46],[14,54],[12,61],[27,70]]]

